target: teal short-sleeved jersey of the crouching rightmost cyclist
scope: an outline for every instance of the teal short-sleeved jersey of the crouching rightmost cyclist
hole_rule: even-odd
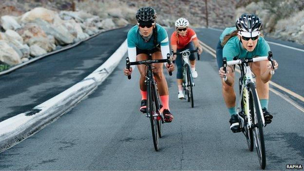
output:
[[[224,30],[222,35],[225,36],[236,30],[236,29],[232,30],[232,28],[230,27],[230,29],[225,29],[226,33],[224,33],[225,32]],[[266,42],[266,40],[261,36],[259,37],[257,45],[252,52],[249,52],[245,48],[243,48],[241,40],[237,36],[235,36],[230,38],[228,42],[225,44],[223,48],[223,57],[226,57],[227,61],[233,60],[234,57],[238,57],[238,58],[252,58],[256,56],[263,57],[263,56],[268,56],[268,51],[270,51],[270,47]]]

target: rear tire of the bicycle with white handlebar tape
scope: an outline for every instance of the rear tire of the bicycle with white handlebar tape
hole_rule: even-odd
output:
[[[248,123],[247,123],[247,118],[245,117],[246,116],[246,114],[245,114],[245,107],[244,107],[244,95],[241,95],[241,92],[242,92],[242,84],[243,84],[243,79],[242,79],[242,77],[240,77],[240,79],[239,79],[239,93],[240,93],[240,96],[242,97],[242,99],[241,99],[241,112],[242,112],[242,115],[243,115],[243,119],[244,119],[244,124],[242,125],[243,126],[243,128],[244,128],[244,135],[245,135],[245,137],[246,137],[246,142],[247,142],[247,146],[248,146],[248,149],[249,149],[249,151],[250,152],[252,152],[253,151],[253,132],[252,132],[252,129],[251,128],[249,128],[248,129]],[[251,101],[251,100],[250,100]],[[250,114],[250,115],[252,115],[252,114]]]

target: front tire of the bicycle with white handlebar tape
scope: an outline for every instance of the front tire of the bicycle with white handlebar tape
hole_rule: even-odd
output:
[[[265,141],[263,133],[263,121],[261,110],[259,107],[259,99],[253,83],[248,83],[249,88],[249,109],[252,117],[252,123],[255,125],[253,128],[254,144],[259,158],[259,163],[262,169],[266,167],[266,153],[265,153]]]

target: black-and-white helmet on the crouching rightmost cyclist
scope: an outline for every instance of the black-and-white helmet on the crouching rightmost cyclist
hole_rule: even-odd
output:
[[[262,29],[263,22],[258,16],[254,14],[242,14],[240,18],[236,20],[235,27],[238,31],[243,32],[255,32]]]

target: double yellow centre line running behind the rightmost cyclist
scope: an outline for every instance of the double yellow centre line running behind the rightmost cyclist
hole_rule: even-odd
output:
[[[202,44],[202,48],[203,48],[204,50],[206,50],[210,55],[212,55],[213,57],[216,58],[215,53],[213,53],[213,52],[211,52],[211,51],[209,50],[209,49],[212,49],[211,47],[209,47],[208,45],[206,45],[206,44],[203,43],[203,42],[201,42],[201,44]],[[214,50],[213,50],[213,51],[214,51]],[[215,51],[214,51],[214,52],[215,52]],[[237,69],[237,68],[235,69],[235,71],[237,71],[238,73],[241,73],[241,71],[240,71],[239,69]],[[282,86],[280,86],[280,85],[278,85],[277,83],[274,83],[274,82],[272,82],[272,81],[269,81],[269,84],[271,84],[272,86],[274,86],[274,87],[276,87],[276,88],[278,88],[278,89],[280,89],[280,90],[286,92],[287,94],[292,95],[292,96],[294,96],[294,97],[296,97],[296,98],[298,98],[299,100],[301,100],[301,101],[304,102],[304,97],[303,97],[303,96],[298,95],[298,94],[296,94],[296,93],[294,93],[294,92],[292,92],[292,91],[290,91],[290,90],[288,90],[288,89],[286,89],[286,88],[284,88],[284,87],[282,87]],[[282,97],[282,98],[285,99],[287,102],[289,102],[290,104],[292,104],[293,106],[295,106],[296,108],[298,108],[300,111],[304,112],[304,109],[303,109],[302,107],[300,107],[300,106],[297,105],[295,102],[293,102],[293,100],[286,98],[282,93],[280,93],[280,92],[278,92],[278,91],[276,91],[276,90],[274,90],[274,89],[272,89],[272,88],[269,88],[269,90],[270,90],[271,92],[273,92],[274,94],[276,94],[276,95],[279,95],[279,94],[280,94],[280,95],[279,95],[280,97]]]

